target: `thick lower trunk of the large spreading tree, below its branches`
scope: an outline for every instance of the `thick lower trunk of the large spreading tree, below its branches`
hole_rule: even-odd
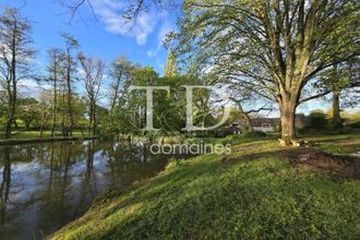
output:
[[[293,100],[280,105],[281,140],[291,141],[297,139],[295,118],[297,104]]]

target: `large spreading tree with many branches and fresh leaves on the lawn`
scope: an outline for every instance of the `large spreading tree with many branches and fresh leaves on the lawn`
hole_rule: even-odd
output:
[[[341,63],[360,53],[358,7],[356,0],[187,0],[178,51],[219,81],[275,100],[281,139],[293,140],[297,107],[327,94],[304,96],[304,87],[334,56]]]

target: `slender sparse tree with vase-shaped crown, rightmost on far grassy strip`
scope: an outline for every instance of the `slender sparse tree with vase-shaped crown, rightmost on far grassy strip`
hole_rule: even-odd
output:
[[[89,129],[96,133],[96,104],[103,82],[105,63],[101,59],[79,55],[80,63],[84,71],[83,83],[89,101]]]

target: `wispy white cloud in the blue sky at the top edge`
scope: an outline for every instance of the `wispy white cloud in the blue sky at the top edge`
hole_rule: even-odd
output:
[[[124,4],[117,0],[92,0],[95,14],[105,24],[106,31],[113,34],[134,37],[139,45],[144,45],[153,33],[160,15],[155,10],[141,12],[135,23],[122,17]]]

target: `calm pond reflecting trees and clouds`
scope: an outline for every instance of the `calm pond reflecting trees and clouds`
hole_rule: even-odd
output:
[[[171,155],[104,141],[0,147],[0,239],[43,239],[95,196],[161,171]]]

